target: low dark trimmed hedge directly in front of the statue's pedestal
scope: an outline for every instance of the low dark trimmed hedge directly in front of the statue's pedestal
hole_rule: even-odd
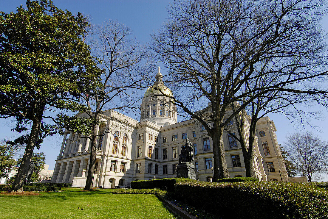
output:
[[[164,178],[151,180],[137,180],[131,182],[132,189],[160,189],[174,191],[174,184],[177,182],[196,181],[188,178]]]

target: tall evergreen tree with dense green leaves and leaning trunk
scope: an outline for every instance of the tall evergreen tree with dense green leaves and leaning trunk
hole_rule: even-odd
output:
[[[47,110],[81,110],[81,92],[93,85],[98,71],[83,42],[88,23],[81,13],[57,9],[51,1],[26,2],[17,13],[0,12],[0,117],[17,119],[15,131],[30,131],[12,191],[23,185],[34,147],[56,133],[42,122]],[[30,125],[31,128],[27,128]]]

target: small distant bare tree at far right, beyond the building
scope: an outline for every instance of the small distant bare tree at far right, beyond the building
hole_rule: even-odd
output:
[[[313,174],[325,171],[325,163],[328,162],[328,142],[312,132],[306,132],[287,136],[285,145],[297,173],[307,176],[310,182]]]

